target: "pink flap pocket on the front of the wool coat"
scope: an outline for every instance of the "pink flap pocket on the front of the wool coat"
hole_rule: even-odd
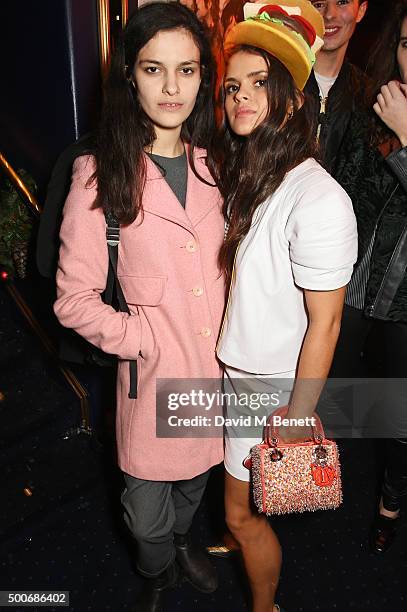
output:
[[[133,306],[158,306],[163,301],[167,284],[166,276],[123,274],[118,278],[128,304]]]

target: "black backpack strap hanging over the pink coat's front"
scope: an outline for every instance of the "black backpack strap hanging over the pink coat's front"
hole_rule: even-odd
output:
[[[109,270],[107,274],[106,289],[105,289],[105,303],[112,304],[114,289],[117,301],[119,303],[119,310],[121,312],[127,312],[131,314],[129,307],[127,306],[126,298],[124,297],[123,290],[121,288],[119,279],[117,278],[117,259],[118,259],[118,247],[120,243],[120,224],[116,217],[111,213],[105,213],[106,218],[106,242],[107,249],[109,252]],[[137,360],[132,359],[129,361],[130,369],[130,389],[129,398],[137,399]]]

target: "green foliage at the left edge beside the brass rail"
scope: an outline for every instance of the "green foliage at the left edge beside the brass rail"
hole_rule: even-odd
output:
[[[37,186],[34,179],[19,169],[18,176],[34,193]],[[33,216],[24,200],[15,189],[13,183],[6,177],[1,177],[0,183],[0,266],[14,276],[15,264],[13,253],[19,247],[27,247],[33,231]]]

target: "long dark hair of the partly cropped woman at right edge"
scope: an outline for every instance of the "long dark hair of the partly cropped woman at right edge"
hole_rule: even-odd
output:
[[[398,0],[392,3],[387,10],[386,25],[383,33],[377,38],[373,47],[367,72],[371,78],[369,92],[369,106],[376,102],[377,95],[382,85],[389,81],[401,80],[401,74],[397,63],[397,48],[400,40],[401,26],[407,17],[407,0]],[[394,137],[394,133],[377,117],[373,115],[373,141],[382,143]]]

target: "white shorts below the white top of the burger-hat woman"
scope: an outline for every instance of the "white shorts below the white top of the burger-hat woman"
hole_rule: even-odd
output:
[[[272,414],[279,407],[286,406],[289,402],[291,391],[294,385],[295,370],[289,372],[280,372],[279,374],[251,374],[225,366],[224,373],[224,392],[234,393],[236,395],[245,396],[247,394],[278,394],[279,405],[274,408],[270,407],[267,414]],[[278,379],[278,380],[270,380]],[[236,418],[237,416],[247,416],[250,414],[250,408],[244,406],[242,408],[228,408],[226,405],[226,418]],[[228,435],[229,433],[229,435]],[[253,432],[252,432],[253,433]],[[263,439],[262,429],[258,430],[258,437],[244,438],[239,436],[239,428],[229,428],[225,434],[225,469],[234,478],[250,481],[250,472],[243,465],[243,460],[250,453],[252,446],[259,444]]]

